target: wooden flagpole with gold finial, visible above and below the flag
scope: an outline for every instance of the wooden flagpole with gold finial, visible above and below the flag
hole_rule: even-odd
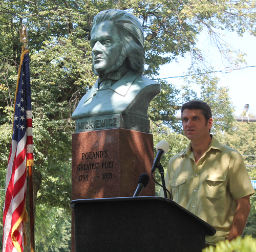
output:
[[[20,43],[24,43],[24,50],[28,49],[28,30],[25,25],[19,30]],[[35,252],[35,224],[34,224],[34,197],[33,197],[33,167],[29,169],[29,212],[30,212],[30,245],[31,252]]]

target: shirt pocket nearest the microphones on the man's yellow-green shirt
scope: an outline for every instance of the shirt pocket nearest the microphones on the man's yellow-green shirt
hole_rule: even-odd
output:
[[[186,177],[175,177],[170,180],[170,186],[172,187],[173,200],[180,202],[186,197]]]

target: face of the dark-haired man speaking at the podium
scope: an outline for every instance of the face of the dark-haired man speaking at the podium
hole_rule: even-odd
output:
[[[212,118],[205,121],[201,109],[187,109],[182,113],[182,125],[185,136],[191,141],[204,141],[209,135]]]

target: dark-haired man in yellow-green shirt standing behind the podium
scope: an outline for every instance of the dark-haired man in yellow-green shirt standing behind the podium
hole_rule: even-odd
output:
[[[242,235],[254,193],[242,156],[210,134],[211,109],[203,101],[181,108],[188,147],[173,156],[165,177],[173,200],[217,230],[206,245]],[[163,196],[163,191],[159,196]]]

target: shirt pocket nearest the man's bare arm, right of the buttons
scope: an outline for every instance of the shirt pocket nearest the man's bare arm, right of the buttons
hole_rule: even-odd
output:
[[[216,200],[225,196],[226,175],[205,174],[204,193],[210,200]]]

